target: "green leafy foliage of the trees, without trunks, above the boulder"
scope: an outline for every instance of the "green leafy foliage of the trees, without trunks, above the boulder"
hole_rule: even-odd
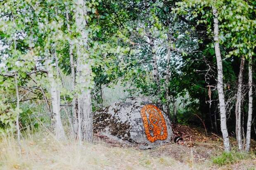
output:
[[[43,99],[42,87],[49,99],[50,84],[45,70],[48,59],[64,105],[70,105],[74,96],[88,89],[92,90],[93,102],[102,104],[102,88],[121,82],[123,86],[131,86],[127,90],[131,95],[153,98],[163,108],[169,104],[168,109],[173,114],[177,98],[188,94],[182,101],[186,106],[178,110],[179,123],[198,123],[194,119],[194,113],[197,113],[206,126],[210,126],[213,114],[215,123],[219,124],[218,93],[214,87],[217,69],[213,5],[218,9],[224,93],[228,99],[236,92],[239,57],[255,56],[254,0],[89,0],[85,6],[86,24],[81,26],[75,24],[73,0],[1,1],[0,46],[5,48],[0,50],[0,91],[5,93],[1,95],[0,126],[14,129],[17,114],[21,116],[23,127],[37,126],[37,120],[32,116],[37,113],[35,108],[30,108],[27,103],[21,104],[21,110],[15,108],[14,75],[17,74],[19,90],[26,88],[24,93],[29,93],[23,98],[29,98],[33,93],[33,97]],[[83,33],[88,37],[86,42]],[[81,74],[89,75],[86,78],[76,77],[75,89],[66,84],[62,87],[62,73],[71,74],[69,50],[76,63],[78,45],[82,61],[89,64],[92,72]],[[168,49],[171,54],[169,63]],[[157,56],[158,82],[152,76],[154,54]],[[210,96],[209,85],[212,86]],[[20,95],[24,93],[22,91]],[[96,109],[97,106],[93,107],[93,111]],[[234,111],[232,107],[228,109],[232,130]],[[171,119],[176,119],[172,116]]]

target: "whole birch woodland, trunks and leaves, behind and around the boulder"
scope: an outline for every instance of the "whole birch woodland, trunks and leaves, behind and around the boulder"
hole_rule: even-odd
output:
[[[18,146],[42,127],[92,142],[93,112],[147,97],[250,150],[254,0],[0,0],[0,15],[0,132]]]

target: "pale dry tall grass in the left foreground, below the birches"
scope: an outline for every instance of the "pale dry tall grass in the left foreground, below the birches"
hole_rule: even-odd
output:
[[[0,169],[94,170],[94,169],[187,169],[168,156],[152,157],[147,151],[109,147],[102,142],[57,141],[45,131],[23,133],[21,153],[12,135],[0,137]]]

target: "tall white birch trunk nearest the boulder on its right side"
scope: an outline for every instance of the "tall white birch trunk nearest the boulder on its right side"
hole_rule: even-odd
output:
[[[225,97],[223,92],[223,68],[222,59],[220,55],[220,45],[219,45],[219,26],[218,26],[218,11],[216,7],[212,6],[213,11],[213,27],[214,27],[214,48],[217,60],[218,68],[218,96],[219,96],[219,108],[220,108],[220,128],[223,135],[223,144],[225,151],[230,151],[228,129],[227,129],[227,118],[226,118],[226,108],[225,108]]]

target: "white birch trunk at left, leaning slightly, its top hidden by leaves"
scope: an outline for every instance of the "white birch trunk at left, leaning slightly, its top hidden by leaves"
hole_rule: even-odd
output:
[[[58,89],[59,83],[54,77],[52,63],[49,58],[46,60],[45,64],[47,67],[47,76],[50,82],[50,94],[52,98],[52,126],[57,140],[63,140],[65,139],[65,133],[60,118],[60,93]]]

